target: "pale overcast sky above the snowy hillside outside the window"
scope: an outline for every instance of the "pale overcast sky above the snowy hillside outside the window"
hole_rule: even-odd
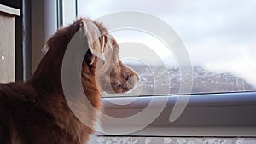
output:
[[[124,10],[141,11],[165,20],[183,39],[193,65],[231,72],[256,86],[255,0],[79,0],[79,15],[91,19]],[[175,61],[164,50],[165,45],[148,34],[120,31],[113,32],[113,36],[119,43],[141,43],[165,60],[168,57],[167,61]],[[152,56],[144,59],[157,61]]]

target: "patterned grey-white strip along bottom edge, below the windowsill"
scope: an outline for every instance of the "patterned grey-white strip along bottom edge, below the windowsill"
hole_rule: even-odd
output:
[[[97,137],[90,144],[255,144],[255,138]]]

